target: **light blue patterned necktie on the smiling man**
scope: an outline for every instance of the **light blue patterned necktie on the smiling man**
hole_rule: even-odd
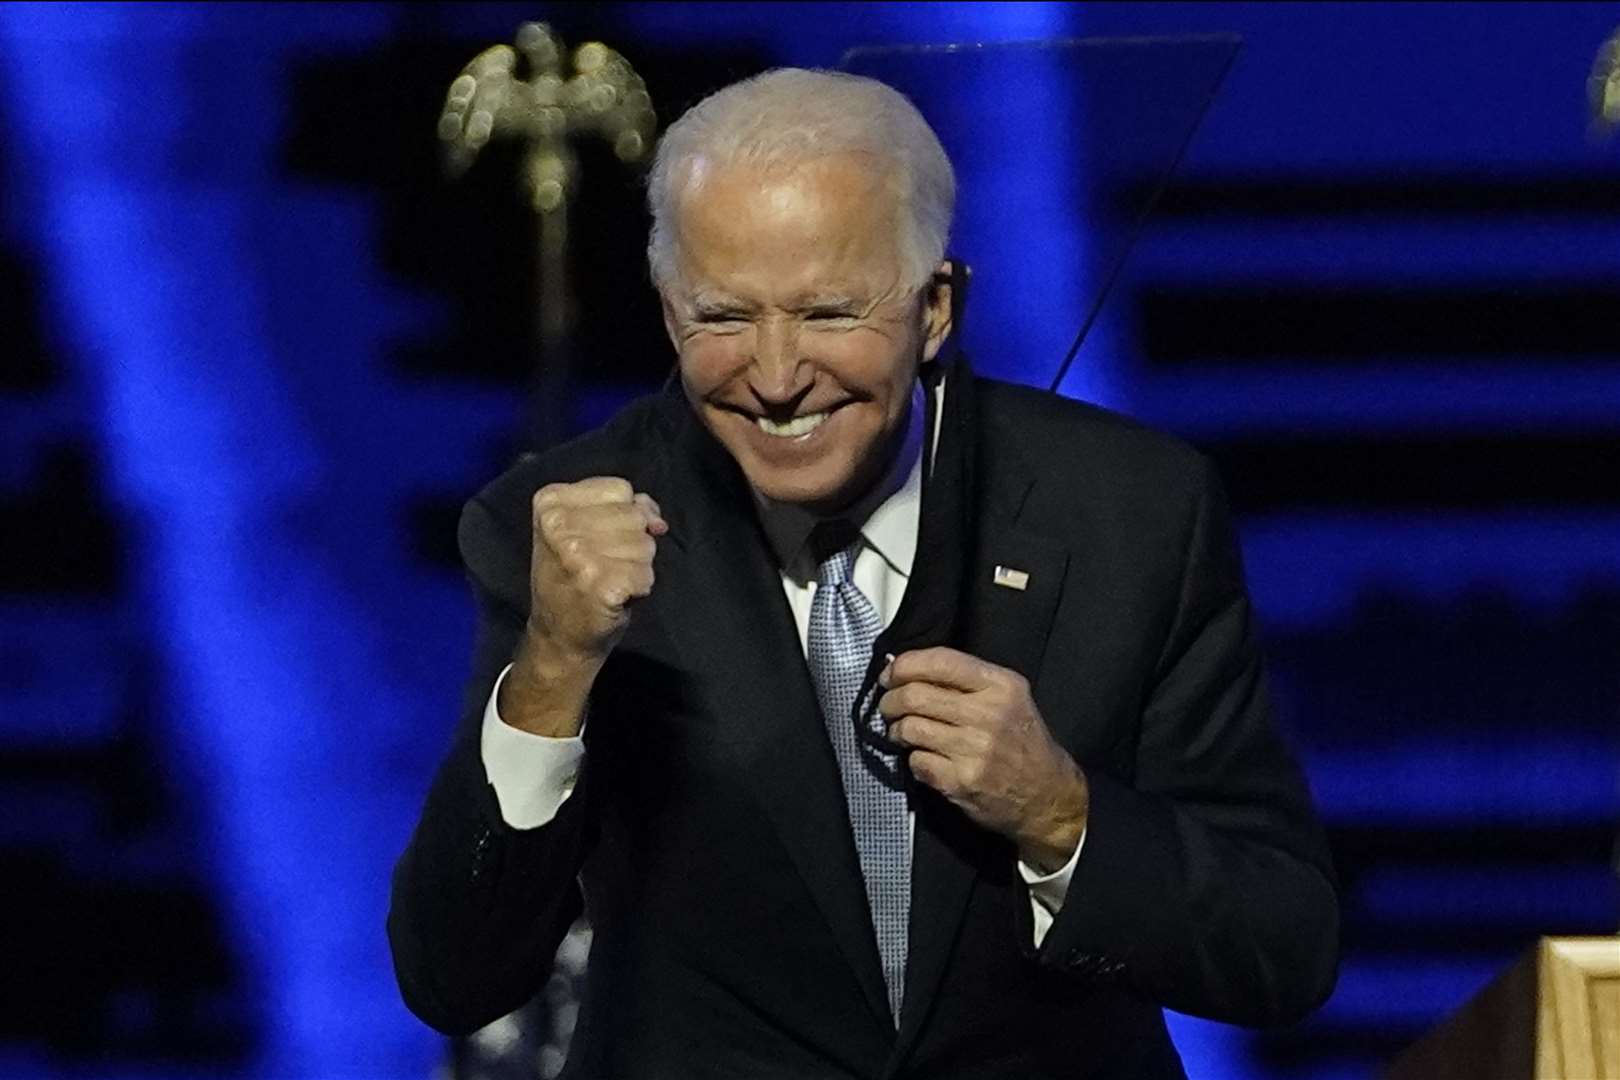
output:
[[[846,526],[842,536],[849,534]],[[813,539],[826,538],[823,526]],[[893,782],[894,758],[862,746],[850,719],[872,659],[872,643],[883,630],[872,601],[850,580],[857,551],[859,536],[821,559],[816,568],[816,591],[810,602],[810,674],[838,755],[860,876],[867,884],[867,907],[883,960],[883,981],[889,989],[889,1012],[899,1027],[910,918],[910,827],[906,792]]]

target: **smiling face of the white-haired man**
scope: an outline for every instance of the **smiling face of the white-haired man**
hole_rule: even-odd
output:
[[[680,382],[761,495],[833,513],[896,452],[949,288],[902,280],[901,220],[857,155],[794,168],[698,160],[663,288]]]

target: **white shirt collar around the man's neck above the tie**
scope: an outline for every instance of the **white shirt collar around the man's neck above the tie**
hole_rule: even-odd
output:
[[[888,471],[868,494],[839,517],[860,523],[860,538],[883,562],[909,578],[917,555],[917,528],[922,521],[922,439],[927,423],[922,382],[912,384],[910,418],[906,439]],[[760,523],[776,555],[776,563],[797,581],[815,578],[810,559],[810,531],[821,518],[804,507],[773,502],[753,492]]]

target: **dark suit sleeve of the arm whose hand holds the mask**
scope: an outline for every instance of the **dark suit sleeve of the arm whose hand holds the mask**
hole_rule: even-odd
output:
[[[1087,769],[1085,853],[1038,959],[1179,1012],[1290,1023],[1333,988],[1338,900],[1304,779],[1272,724],[1207,463],[1194,502],[1134,776]]]

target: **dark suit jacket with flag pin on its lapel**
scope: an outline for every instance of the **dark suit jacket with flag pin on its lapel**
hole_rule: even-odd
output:
[[[1092,789],[1040,950],[1013,848],[920,793],[894,1030],[776,565],[740,471],[671,389],[467,504],[475,669],[389,915],[423,1020],[463,1033],[522,1004],[582,897],[595,941],[577,1077],[1179,1077],[1160,1006],[1280,1023],[1327,996],[1332,871],[1272,727],[1209,465],[1097,408],[966,369],[951,387],[977,402],[951,640],[1030,680]],[[481,712],[526,617],[530,497],[593,474],[651,492],[671,533],[596,682],[573,795],[514,831],[480,759]],[[993,585],[995,565],[1029,588]]]

